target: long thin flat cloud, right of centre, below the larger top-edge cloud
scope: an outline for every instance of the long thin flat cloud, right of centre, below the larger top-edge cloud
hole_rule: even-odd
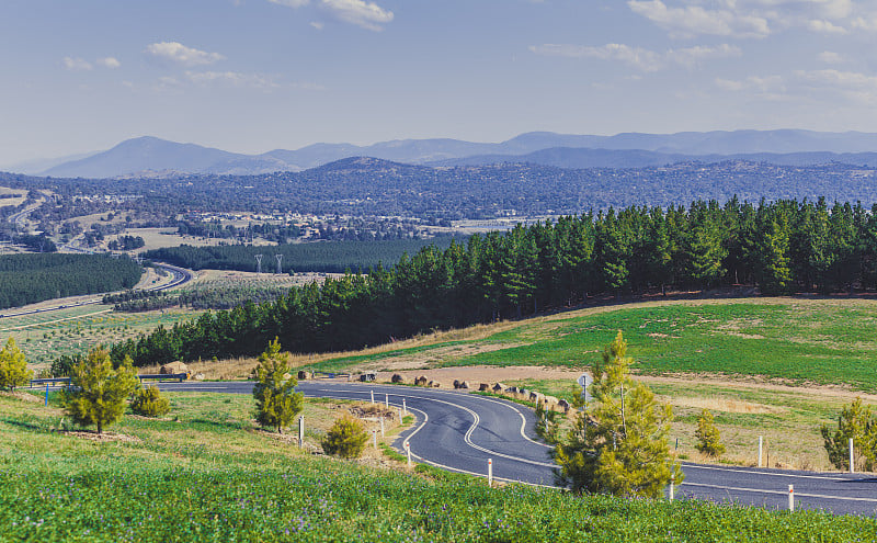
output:
[[[569,58],[599,58],[601,60],[616,60],[625,63],[641,71],[658,71],[670,64],[693,67],[696,64],[722,57],[740,56],[740,47],[721,44],[716,47],[697,45],[680,49],[669,49],[658,53],[642,47],[631,47],[624,44],[606,44],[599,47],[569,44],[533,45],[529,50],[537,55],[558,56]]]

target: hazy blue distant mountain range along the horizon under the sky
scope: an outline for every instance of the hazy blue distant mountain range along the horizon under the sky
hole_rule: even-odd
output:
[[[785,166],[829,162],[877,166],[877,134],[784,129],[589,136],[533,132],[499,144],[402,139],[369,146],[316,144],[262,155],[235,154],[145,136],[60,163],[19,165],[18,171],[65,178],[260,174],[300,171],[357,156],[430,166],[534,163],[560,168],[639,168],[738,159]],[[52,166],[36,169],[39,165]]]

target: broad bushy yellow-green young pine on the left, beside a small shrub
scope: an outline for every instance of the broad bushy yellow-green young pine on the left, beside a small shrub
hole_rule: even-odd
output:
[[[62,395],[64,408],[77,425],[94,425],[103,433],[104,427],[122,418],[128,396],[139,386],[130,358],[113,367],[110,352],[98,347],[73,366],[70,387]]]

